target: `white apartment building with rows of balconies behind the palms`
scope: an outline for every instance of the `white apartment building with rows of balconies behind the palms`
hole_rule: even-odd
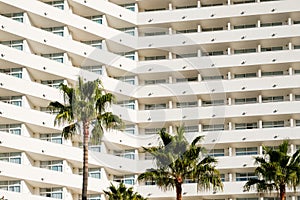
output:
[[[184,199],[276,198],[243,185],[263,145],[300,148],[299,0],[0,0],[0,14],[0,198],[80,199],[81,138],[46,108],[78,75],[103,80],[126,124],[90,147],[89,200],[111,181],[174,199],[137,176],[154,166],[142,147],[180,124],[205,135],[224,183],[186,183]]]

